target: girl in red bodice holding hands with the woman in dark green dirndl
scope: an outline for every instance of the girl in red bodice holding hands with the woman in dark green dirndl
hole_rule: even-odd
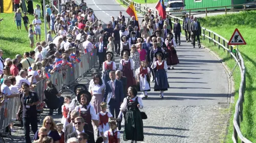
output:
[[[97,115],[99,120],[99,127],[103,132],[105,132],[110,129],[109,118],[111,120],[116,120],[116,121],[119,121],[119,120],[116,118],[113,118],[111,112],[106,111],[106,102],[101,102],[100,107],[101,107],[101,111]],[[106,139],[104,140],[104,142],[108,143],[108,140]]]

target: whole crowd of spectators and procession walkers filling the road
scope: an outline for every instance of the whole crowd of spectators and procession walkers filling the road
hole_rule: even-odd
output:
[[[86,3],[78,6],[74,1],[65,2],[58,14],[46,5],[47,40],[36,42],[35,49],[25,52],[23,59],[17,54],[13,60],[4,60],[4,51],[0,50],[1,92],[4,95],[0,105],[7,98],[20,97],[17,119],[22,121],[28,143],[31,142],[30,125],[34,142],[120,142],[122,118],[123,139],[143,141],[142,119],[147,117],[140,112],[142,98],[148,98],[151,82],[155,82],[154,90],[164,98],[164,91],[169,88],[166,72],[179,64],[175,47],[181,44],[181,30],[185,31],[186,42],[191,42],[194,47],[197,37],[200,48],[200,23],[196,17],[186,16],[183,25],[178,19],[172,24],[168,15],[162,19],[148,11],[140,26],[134,16],[126,23],[119,12],[117,19],[112,17],[103,28],[101,20]],[[21,28],[22,18],[26,27],[29,24],[26,13],[22,16],[20,9],[16,11],[17,29]],[[34,47],[34,35],[36,41],[41,40],[39,5],[33,14],[35,19],[26,28],[31,48]],[[50,112],[38,129],[38,105],[42,101],[31,90],[35,83],[49,78],[47,75],[54,72],[62,73],[65,79],[67,68],[93,49],[98,56],[99,68],[94,70],[88,90],[77,89],[76,98],[71,100],[69,96],[62,97],[52,81],[47,81],[44,101]],[[119,56],[121,60],[117,61],[117,67],[115,59]],[[138,92],[143,96],[138,96]],[[106,111],[107,105],[109,111]],[[63,116],[61,123],[56,124],[51,117],[54,109]],[[12,124],[10,129],[13,131]],[[97,135],[94,135],[95,129]]]

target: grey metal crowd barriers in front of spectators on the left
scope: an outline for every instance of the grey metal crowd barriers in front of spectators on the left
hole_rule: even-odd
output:
[[[42,102],[45,99],[44,91],[47,89],[46,82],[51,80],[58,91],[61,91],[65,86],[71,86],[84,77],[84,74],[95,68],[97,62],[96,49],[91,52],[83,54],[79,59],[79,63],[74,64],[73,67],[68,66],[66,71],[55,72],[51,74],[49,79],[43,79],[37,82],[36,87],[32,90],[37,92],[39,100]],[[63,78],[63,72],[66,77]],[[70,90],[69,90],[70,91]],[[72,91],[71,91],[72,92]],[[73,92],[72,92],[73,93]],[[16,119],[16,113],[20,105],[19,97],[10,98],[0,107],[0,134],[7,134],[12,139],[11,135],[5,132],[5,128]]]

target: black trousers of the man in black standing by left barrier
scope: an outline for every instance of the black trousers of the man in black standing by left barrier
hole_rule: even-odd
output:
[[[37,119],[35,118],[31,118],[31,117],[27,117],[27,118],[23,118],[23,127],[24,127],[24,133],[25,133],[25,140],[26,143],[31,143],[31,139],[30,139],[30,127],[29,125],[31,125],[31,129],[33,131],[33,133],[35,134],[37,131]]]

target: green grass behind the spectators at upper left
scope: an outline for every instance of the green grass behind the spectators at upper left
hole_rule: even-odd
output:
[[[37,0],[33,1],[33,6],[36,8],[36,4],[40,5]],[[24,14],[23,14],[24,16]],[[34,16],[27,14],[29,22],[32,23]],[[22,20],[22,30],[17,31],[16,22],[14,22],[14,13],[1,13],[0,18],[4,20],[0,23],[0,49],[4,51],[4,58],[15,58],[16,54],[22,54],[25,51],[34,50],[30,48],[30,42],[28,38],[28,32],[25,29]],[[45,24],[44,18],[41,18],[41,41],[45,40]],[[48,27],[48,26],[47,26]],[[33,27],[34,28],[34,27]],[[54,36],[54,35],[52,35]],[[34,36],[34,41],[36,41]],[[35,45],[35,44],[34,44]]]

